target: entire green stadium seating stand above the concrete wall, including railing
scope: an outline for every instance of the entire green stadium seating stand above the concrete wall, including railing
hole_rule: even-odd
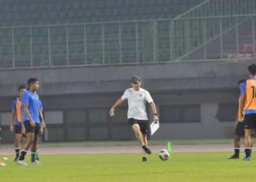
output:
[[[1,23],[13,23],[0,27],[0,68],[223,59],[240,52],[225,53],[225,42],[208,47],[236,27],[240,36],[241,24],[255,18],[252,0],[11,2],[0,6]]]

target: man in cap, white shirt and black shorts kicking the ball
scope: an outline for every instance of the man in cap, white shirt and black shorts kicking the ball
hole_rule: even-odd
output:
[[[135,136],[143,148],[143,162],[147,161],[146,154],[151,154],[148,149],[148,116],[146,114],[146,103],[149,103],[154,114],[154,122],[158,122],[157,109],[151,95],[147,90],[141,88],[140,76],[132,76],[132,88],[125,90],[124,95],[116,101],[110,109],[110,116],[114,116],[115,108],[124,100],[128,100],[128,122],[132,126]]]

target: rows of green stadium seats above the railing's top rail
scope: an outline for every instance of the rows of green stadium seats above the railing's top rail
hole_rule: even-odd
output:
[[[203,0],[1,1],[1,26],[170,18]]]

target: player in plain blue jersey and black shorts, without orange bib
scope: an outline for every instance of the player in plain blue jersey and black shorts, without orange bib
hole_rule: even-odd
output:
[[[26,144],[21,151],[18,165],[27,165],[25,156],[27,151],[31,148],[31,163],[37,165],[36,151],[38,143],[38,135],[41,127],[45,127],[45,122],[40,124],[39,119],[39,81],[31,78],[28,81],[29,90],[27,90],[22,97],[23,103],[23,124],[26,130]]]

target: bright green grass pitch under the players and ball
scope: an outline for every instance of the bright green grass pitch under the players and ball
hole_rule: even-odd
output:
[[[140,154],[44,155],[40,166],[18,166],[8,156],[7,166],[0,167],[0,181],[255,181],[256,160],[227,160],[230,154],[172,154],[167,162],[152,154],[146,163]]]

